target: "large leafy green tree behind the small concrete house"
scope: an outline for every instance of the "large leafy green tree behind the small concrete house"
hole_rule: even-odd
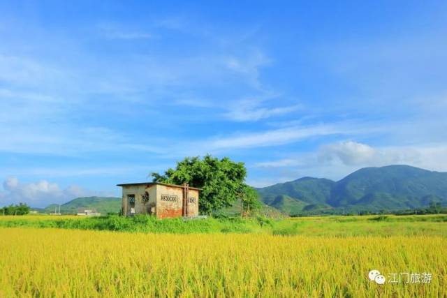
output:
[[[210,155],[203,159],[199,156],[186,157],[177,162],[175,169],[169,168],[164,174],[152,173],[154,182],[187,183],[192,187],[203,188],[203,191],[200,191],[199,211],[205,214],[230,207],[241,198],[253,204],[253,194],[244,183],[246,176],[244,163],[231,161],[228,157],[219,159]]]

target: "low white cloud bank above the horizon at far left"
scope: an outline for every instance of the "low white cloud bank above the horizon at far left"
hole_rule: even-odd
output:
[[[48,204],[64,203],[84,196],[110,195],[76,185],[62,189],[58,184],[46,180],[21,183],[17,177],[8,177],[3,181],[3,189],[3,193],[0,192],[0,205],[24,202],[31,207],[46,207]]]

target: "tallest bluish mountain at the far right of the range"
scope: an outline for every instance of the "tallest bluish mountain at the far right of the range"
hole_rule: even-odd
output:
[[[328,204],[372,209],[419,208],[430,202],[427,196],[446,201],[447,173],[409,165],[388,165],[365,167],[338,181]]]

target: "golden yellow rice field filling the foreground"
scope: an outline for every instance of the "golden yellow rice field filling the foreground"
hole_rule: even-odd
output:
[[[446,237],[0,228],[0,297],[446,297]],[[431,283],[367,278],[429,272]]]

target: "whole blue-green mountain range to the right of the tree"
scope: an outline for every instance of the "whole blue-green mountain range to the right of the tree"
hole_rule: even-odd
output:
[[[447,173],[409,165],[365,167],[337,182],[305,177],[257,191],[265,204],[287,214],[413,209],[447,203]]]

